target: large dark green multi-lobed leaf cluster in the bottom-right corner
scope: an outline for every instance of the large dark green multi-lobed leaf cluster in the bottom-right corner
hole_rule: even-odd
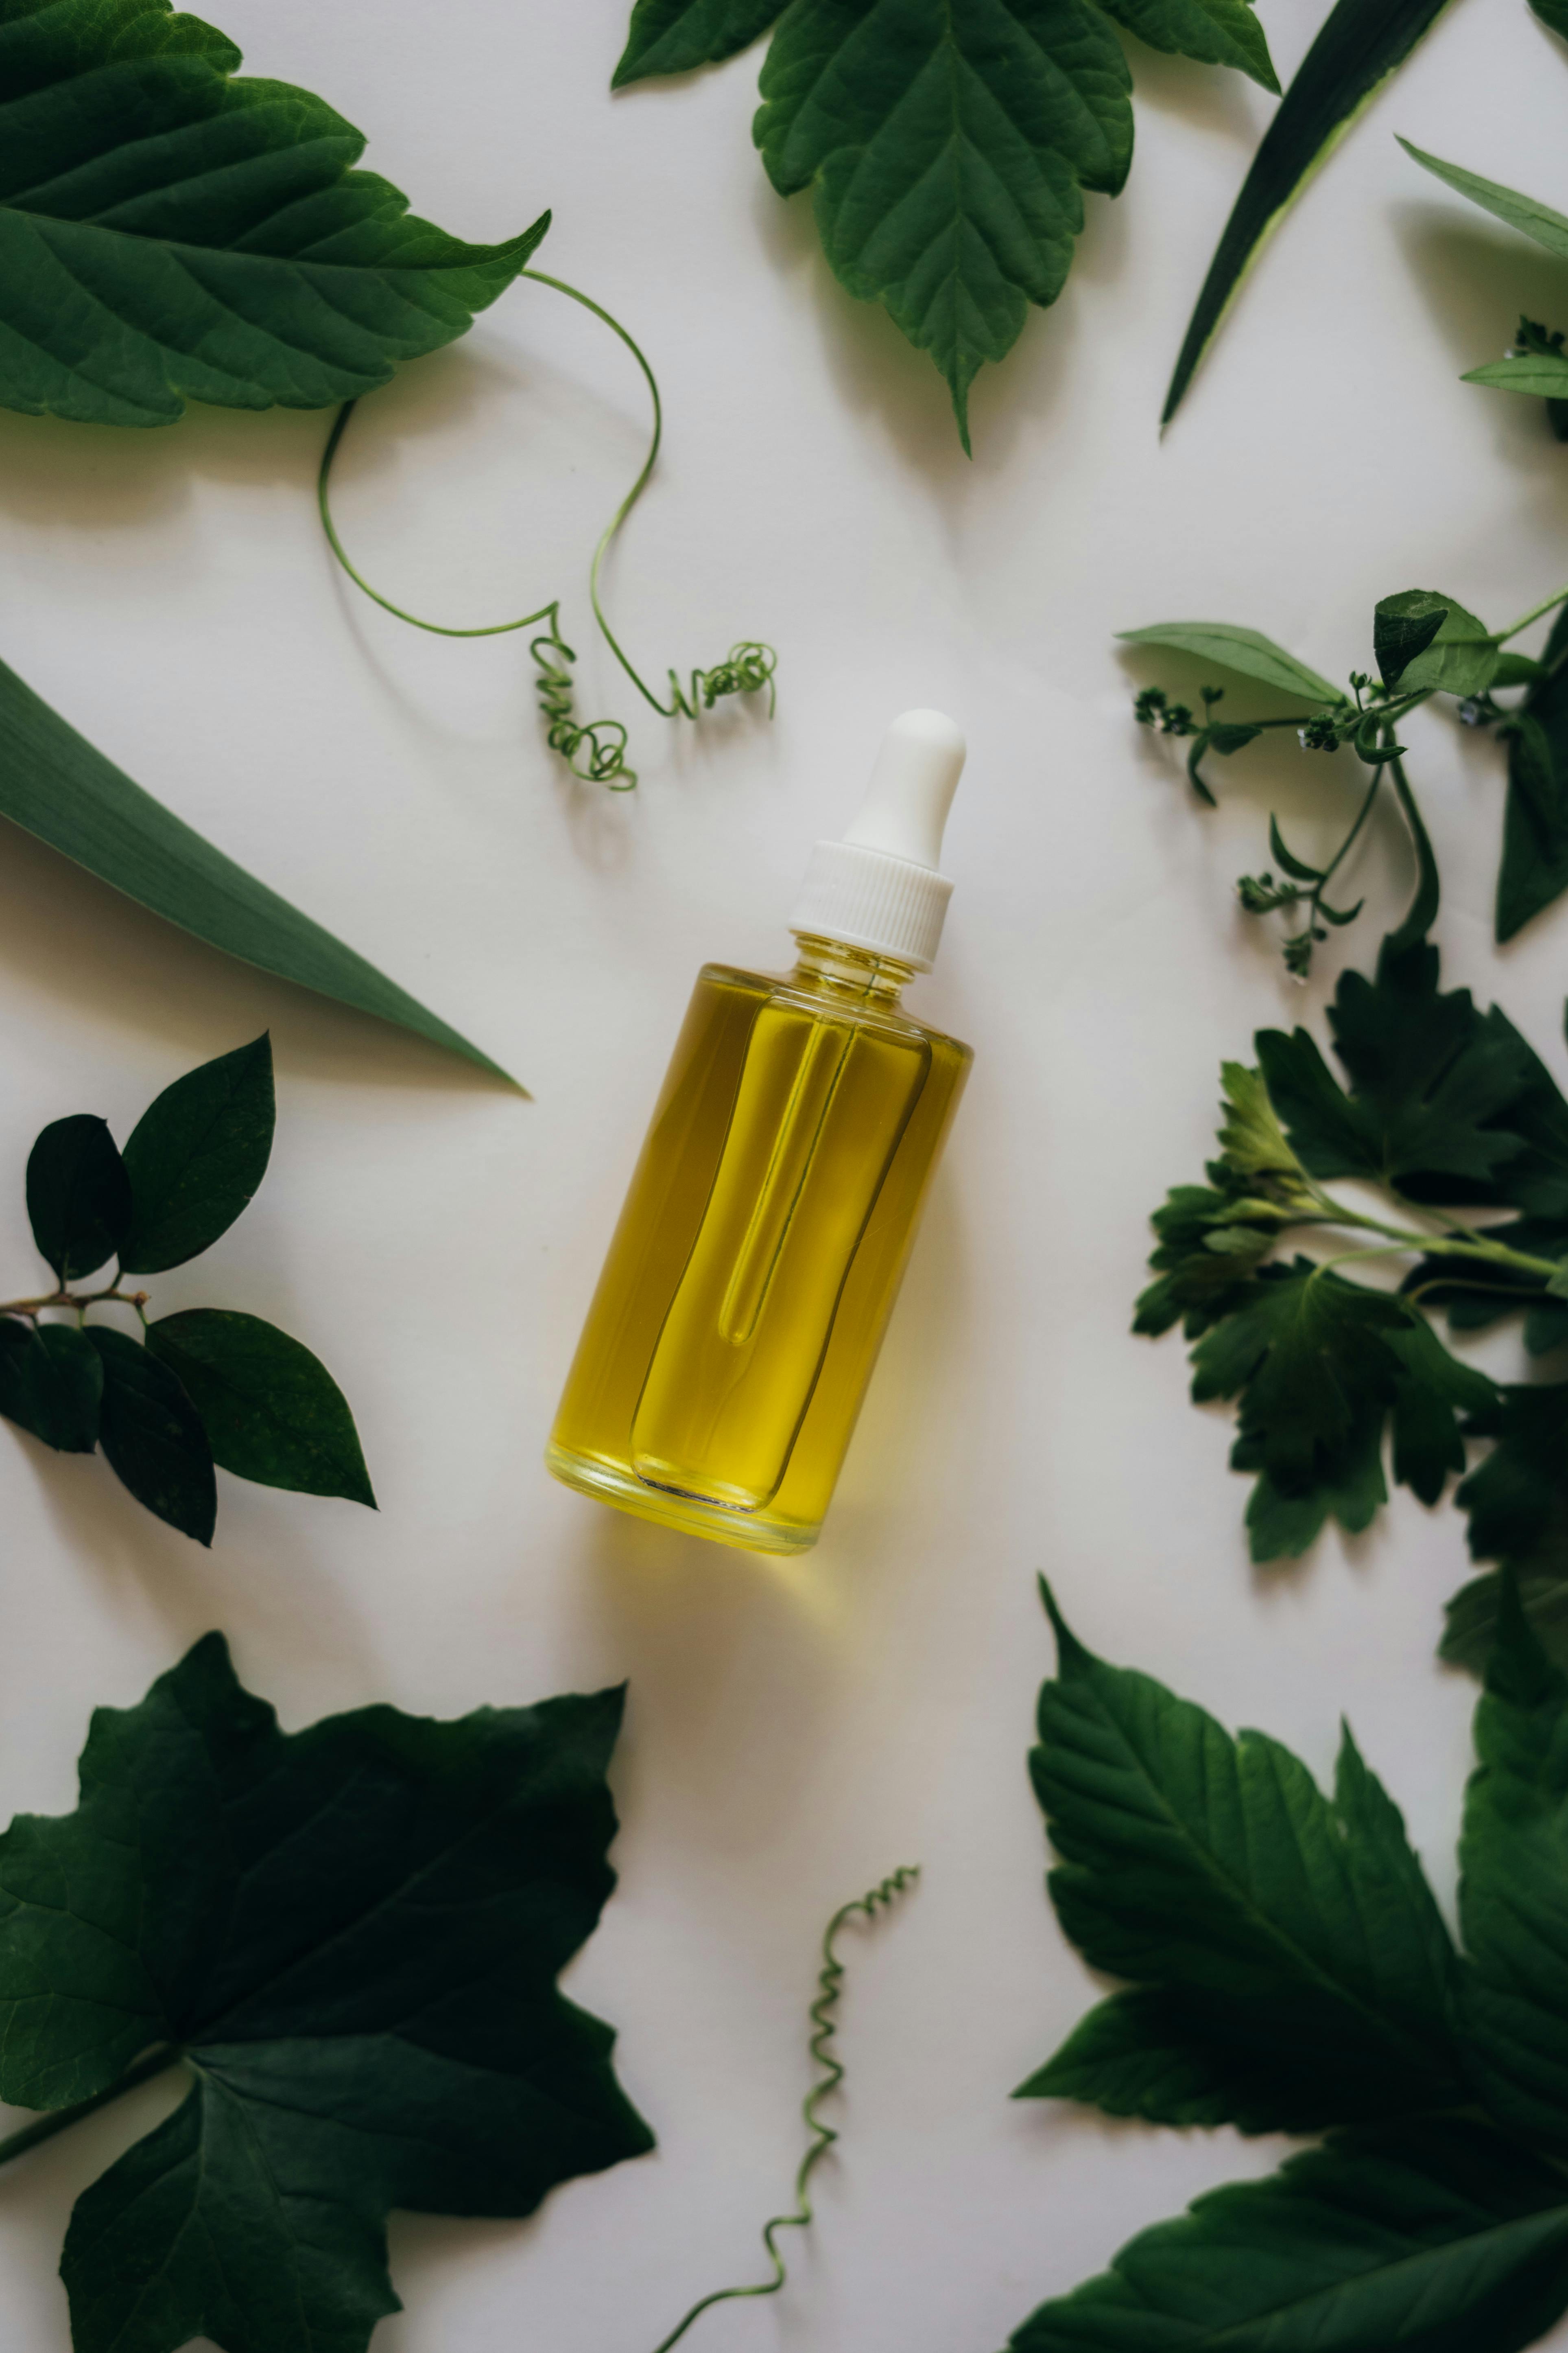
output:
[[[1455,1948],[1345,1729],[1333,1795],[1046,1595],[1051,1901],[1124,1981],[1020,2097],[1326,2134],[1041,2304],[1013,2353],[1519,2353],[1568,2311],[1568,1680],[1505,1588]]]

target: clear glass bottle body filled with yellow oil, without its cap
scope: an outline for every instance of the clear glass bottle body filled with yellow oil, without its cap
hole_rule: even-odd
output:
[[[971,1064],[910,965],[799,948],[698,976],[545,1457],[762,1553],[816,1544]]]

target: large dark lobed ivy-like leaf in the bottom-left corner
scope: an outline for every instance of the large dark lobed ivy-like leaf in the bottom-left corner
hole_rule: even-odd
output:
[[[190,2092],[75,2205],[78,2353],[364,2353],[393,2207],[529,2214],[651,2146],[555,1977],[614,1873],[621,1692],[282,1734],[207,1635],[0,1838],[0,2097]],[[150,2052],[150,2057],[148,2057]]]

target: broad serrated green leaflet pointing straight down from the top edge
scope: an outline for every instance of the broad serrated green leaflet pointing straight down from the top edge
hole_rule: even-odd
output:
[[[1131,75],[1091,0],[799,0],[752,127],[780,195],[811,188],[823,252],[969,386],[1051,304],[1133,160]]]

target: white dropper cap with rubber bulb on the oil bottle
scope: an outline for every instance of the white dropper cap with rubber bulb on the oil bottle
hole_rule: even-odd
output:
[[[790,929],[931,972],[952,896],[936,861],[961,772],[964,736],[950,718],[893,720],[853,826],[811,852]]]

